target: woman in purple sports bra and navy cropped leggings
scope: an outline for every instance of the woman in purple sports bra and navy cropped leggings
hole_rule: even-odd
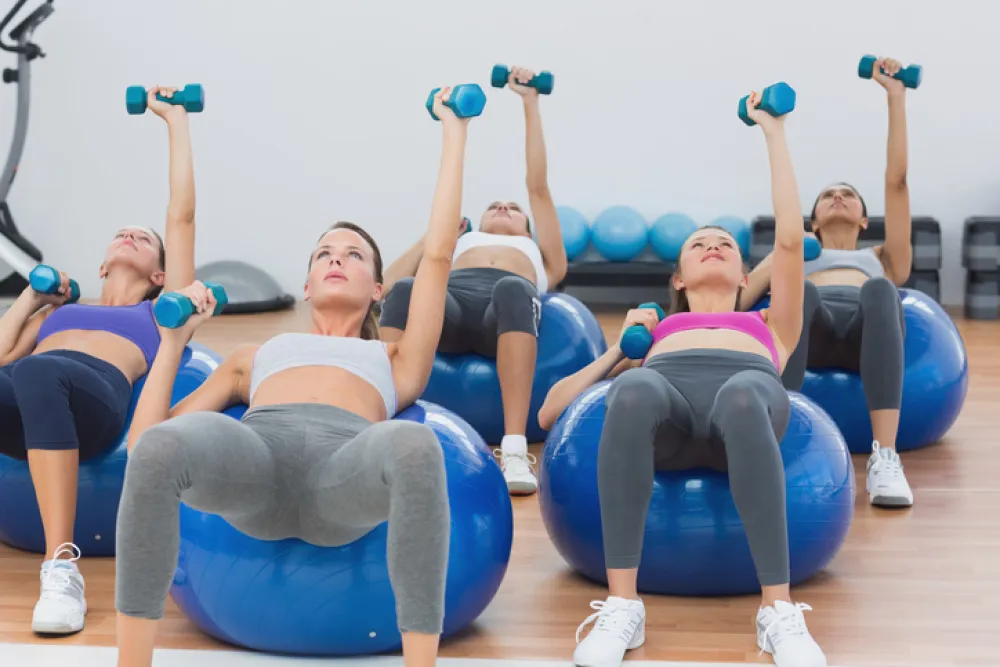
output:
[[[45,531],[41,596],[31,627],[45,634],[83,629],[87,603],[73,544],[79,463],[118,442],[132,385],[160,344],[153,302],[164,287],[194,280],[194,168],[188,116],[157,100],[174,88],[152,88],[150,110],[170,134],[170,203],[166,244],[145,227],[115,235],[101,264],[96,305],[65,304],[59,294],[28,287],[0,318],[0,454],[27,459]],[[169,252],[168,252],[169,251]]]

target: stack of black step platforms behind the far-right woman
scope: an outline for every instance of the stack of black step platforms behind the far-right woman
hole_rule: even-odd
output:
[[[812,231],[809,216],[806,231]],[[941,302],[941,224],[931,217],[913,218],[913,266],[910,279],[904,287],[920,290],[938,303]],[[885,218],[868,218],[868,228],[858,236],[858,248],[868,248],[885,243]],[[756,266],[774,250],[774,217],[760,216],[750,226],[750,265]]]

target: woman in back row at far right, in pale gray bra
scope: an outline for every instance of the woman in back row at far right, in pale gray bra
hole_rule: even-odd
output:
[[[905,322],[896,286],[909,279],[913,261],[906,184],[906,88],[892,78],[901,69],[898,60],[885,58],[875,61],[872,73],[885,88],[889,103],[885,243],[858,250],[858,235],[868,226],[868,209],[852,186],[837,183],[816,198],[810,217],[822,252],[805,263],[808,282],[802,337],[782,376],[786,388],[798,391],[806,368],[860,372],[874,435],[866,489],[869,502],[883,507],[913,504],[913,492],[896,453]],[[745,307],[764,295],[770,274],[771,263],[766,259],[750,274]]]

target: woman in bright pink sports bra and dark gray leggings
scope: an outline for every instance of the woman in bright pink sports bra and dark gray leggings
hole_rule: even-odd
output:
[[[804,226],[783,118],[747,109],[767,139],[777,220],[770,308],[734,312],[747,276],[739,246],[720,227],[703,227],[681,248],[671,278],[670,314],[632,310],[622,331],[652,331],[645,361],[615,345],[556,384],[539,420],[551,427],[587,387],[617,379],[607,396],[598,453],[598,490],[610,597],[591,603],[596,625],[579,643],[581,667],[615,667],[645,641],[646,612],[636,580],[656,470],[728,470],[760,579],[757,643],[784,667],[826,665],[806,629],[803,604],[791,602],[785,476],[778,443],[791,411],[779,372],[802,322]],[[640,367],[641,366],[641,367]]]

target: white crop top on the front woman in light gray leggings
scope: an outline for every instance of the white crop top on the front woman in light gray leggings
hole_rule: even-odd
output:
[[[386,345],[379,340],[284,333],[257,350],[250,372],[250,400],[260,383],[281,371],[302,366],[332,366],[375,387],[385,402],[386,419],[396,415],[396,383]]]

